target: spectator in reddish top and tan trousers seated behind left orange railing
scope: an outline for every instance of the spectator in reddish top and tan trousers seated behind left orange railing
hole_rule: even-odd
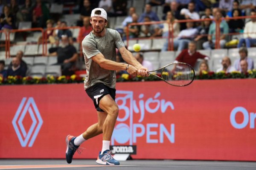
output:
[[[53,20],[47,20],[46,21],[46,27],[47,30],[44,31],[44,38],[46,38],[46,42],[54,44],[55,39],[57,35],[55,34],[55,31],[51,28],[53,28],[54,21]],[[42,37],[40,36],[38,39],[38,43],[42,43]]]

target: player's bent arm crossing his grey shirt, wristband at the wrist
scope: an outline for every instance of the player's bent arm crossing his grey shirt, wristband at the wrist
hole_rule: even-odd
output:
[[[110,59],[105,59],[102,53],[99,53],[93,56],[92,59],[94,62],[99,64],[101,68],[104,68],[106,70],[116,70],[116,71],[126,70],[132,76],[137,75],[138,70],[133,65],[128,65],[121,62],[114,62]]]

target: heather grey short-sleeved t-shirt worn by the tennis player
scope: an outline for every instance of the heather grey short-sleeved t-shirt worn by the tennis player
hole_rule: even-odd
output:
[[[104,83],[110,88],[116,88],[116,71],[101,68],[92,57],[102,53],[105,59],[116,61],[116,48],[124,47],[120,34],[113,29],[106,28],[104,37],[97,37],[90,32],[82,41],[84,61],[87,75],[84,80],[84,89],[96,83]]]

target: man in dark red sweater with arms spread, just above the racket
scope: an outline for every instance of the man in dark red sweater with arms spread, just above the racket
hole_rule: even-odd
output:
[[[189,42],[189,49],[184,49],[181,51],[181,53],[175,59],[175,62],[185,62],[194,67],[197,59],[208,60],[209,57],[196,51],[195,42]]]

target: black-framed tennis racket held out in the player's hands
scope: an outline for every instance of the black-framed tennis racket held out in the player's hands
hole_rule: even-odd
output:
[[[151,74],[155,72],[161,72],[161,77],[157,74]],[[159,77],[163,81],[174,86],[186,86],[193,82],[195,78],[195,70],[191,65],[184,62],[170,63],[162,68],[158,68],[154,71],[149,71],[149,74]]]

